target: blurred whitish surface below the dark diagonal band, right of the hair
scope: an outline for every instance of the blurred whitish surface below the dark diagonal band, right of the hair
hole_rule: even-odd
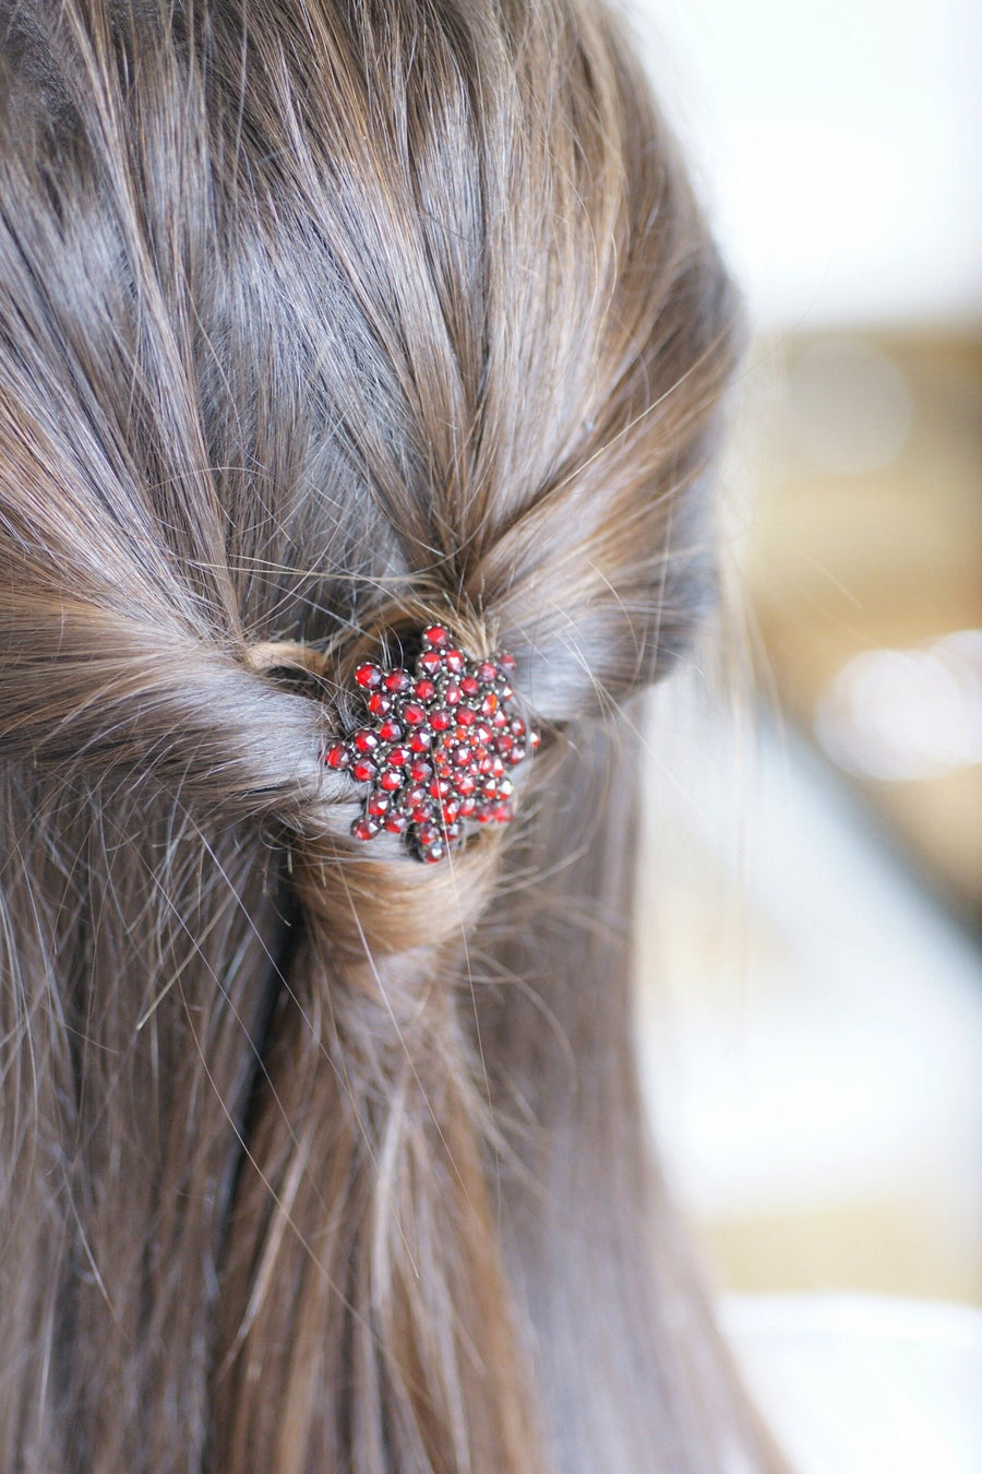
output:
[[[639,1033],[717,1281],[982,1303],[975,948],[798,740],[708,725],[652,713]]]

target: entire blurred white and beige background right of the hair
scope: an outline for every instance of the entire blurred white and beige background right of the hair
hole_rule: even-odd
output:
[[[982,7],[630,15],[754,324],[726,669],[649,712],[657,1132],[724,1290],[982,1304]]]

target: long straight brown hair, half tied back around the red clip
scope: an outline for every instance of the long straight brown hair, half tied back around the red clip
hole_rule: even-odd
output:
[[[4,0],[0,53],[0,1465],[776,1467],[630,1058],[736,317],[630,46]],[[423,618],[545,734],[433,867],[322,764]]]

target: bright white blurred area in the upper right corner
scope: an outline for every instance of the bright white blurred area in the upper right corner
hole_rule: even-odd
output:
[[[982,321],[976,0],[633,0],[761,327]]]

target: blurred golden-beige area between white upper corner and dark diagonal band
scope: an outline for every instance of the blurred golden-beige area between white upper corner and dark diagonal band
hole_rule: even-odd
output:
[[[807,731],[822,724],[826,746],[841,738],[835,755],[852,756],[910,858],[982,917],[982,342],[789,340],[769,385],[743,569],[780,703]],[[951,660],[932,672],[928,652],[972,631],[957,713]],[[901,656],[892,684],[875,652]],[[855,709],[864,671],[867,703],[889,713]],[[969,722],[976,761],[945,761]],[[907,777],[880,777],[883,762],[904,771],[904,740]]]

